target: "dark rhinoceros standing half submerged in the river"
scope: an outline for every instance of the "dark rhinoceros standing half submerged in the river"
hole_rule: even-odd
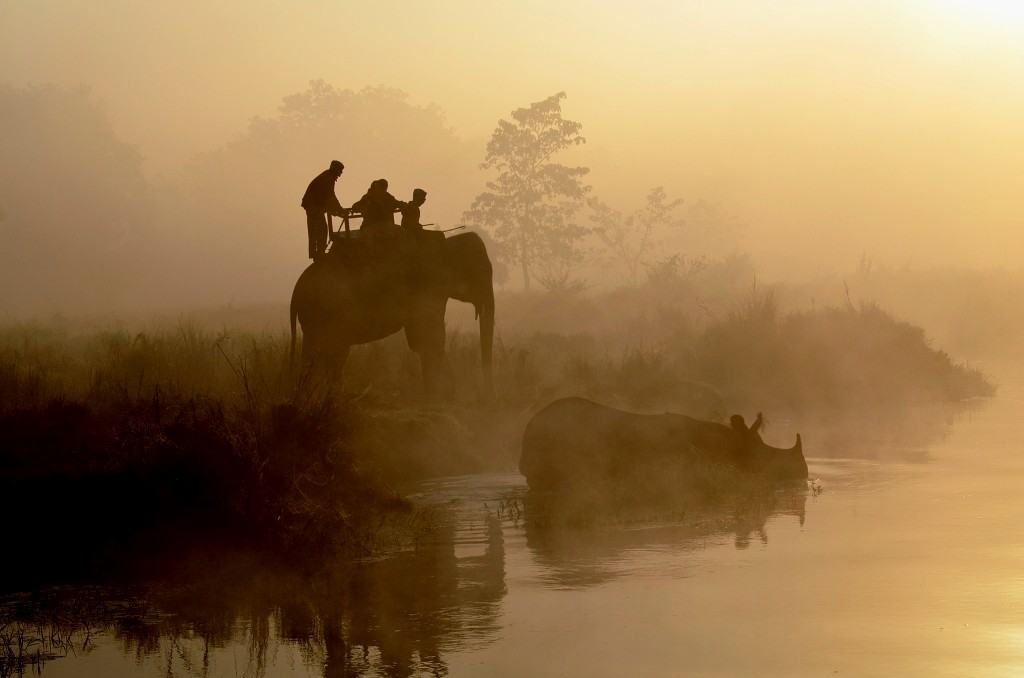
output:
[[[804,479],[800,434],[788,450],[765,444],[733,415],[730,426],[685,415],[638,415],[581,397],[555,400],[529,420],[522,437],[519,471],[534,489],[548,489],[580,476],[613,478],[639,462],[666,455],[695,458],[761,473],[772,479]]]

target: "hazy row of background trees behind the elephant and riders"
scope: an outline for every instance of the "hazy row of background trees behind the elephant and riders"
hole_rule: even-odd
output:
[[[347,168],[343,203],[380,177],[400,199],[423,187],[432,220],[462,216],[484,231],[526,290],[588,287],[588,267],[602,284],[637,285],[700,253],[687,242],[694,225],[734,247],[735,224],[718,208],[686,210],[664,187],[628,213],[594,197],[588,168],[558,162],[585,143],[583,126],[562,115],[565,96],[500,121],[478,164],[437,107],[312,81],[275,116],[151,183],[139,149],[88,88],[0,86],[0,305],[74,312],[285,298],[305,263],[299,198],[335,157]]]

